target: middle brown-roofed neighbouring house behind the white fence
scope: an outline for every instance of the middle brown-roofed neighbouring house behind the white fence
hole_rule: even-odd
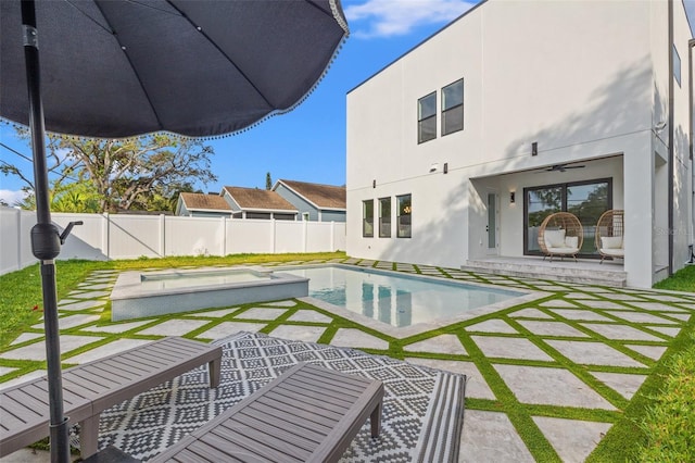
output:
[[[232,218],[296,221],[296,208],[275,191],[225,187],[220,195],[230,205]]]

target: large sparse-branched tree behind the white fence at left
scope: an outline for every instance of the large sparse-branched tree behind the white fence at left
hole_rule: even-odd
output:
[[[27,133],[21,135],[26,136]],[[152,210],[149,203],[155,199],[157,207],[162,204],[162,199],[170,204],[179,191],[190,188],[192,184],[201,182],[206,185],[217,179],[211,171],[210,157],[213,154],[212,147],[203,145],[201,140],[168,134],[126,140],[50,135],[47,150],[47,157],[51,160],[52,197],[79,204],[86,201],[88,192],[94,192],[98,201],[96,212]],[[18,176],[30,190],[34,189],[30,179],[14,165],[4,163],[0,172]],[[71,186],[67,189],[70,195],[63,192],[61,196],[65,185],[75,183],[87,183],[89,186]]]

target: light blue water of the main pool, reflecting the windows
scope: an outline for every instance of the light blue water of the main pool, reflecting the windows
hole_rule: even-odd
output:
[[[365,268],[326,266],[279,272],[309,278],[312,298],[396,327],[452,318],[525,295]]]

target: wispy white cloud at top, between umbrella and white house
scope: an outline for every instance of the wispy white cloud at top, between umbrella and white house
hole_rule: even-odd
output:
[[[409,34],[415,27],[446,24],[475,5],[465,0],[367,0],[344,9],[352,35],[392,37]]]

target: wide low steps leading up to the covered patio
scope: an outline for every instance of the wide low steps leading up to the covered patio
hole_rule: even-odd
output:
[[[581,263],[580,263],[581,264]],[[596,263],[597,264],[597,263]],[[553,265],[548,262],[519,262],[504,259],[469,260],[460,266],[465,272],[490,273],[503,276],[549,279],[554,281],[579,283],[611,287],[626,287],[628,274],[621,270],[601,270],[598,265],[591,267],[573,266],[567,261]]]

